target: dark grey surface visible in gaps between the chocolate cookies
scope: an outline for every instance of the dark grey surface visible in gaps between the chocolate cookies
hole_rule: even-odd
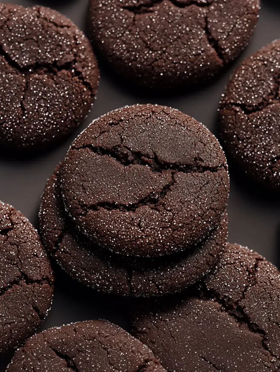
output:
[[[21,0],[23,6],[36,4],[57,9],[85,31],[88,0]],[[263,0],[260,19],[250,45],[244,54],[212,84],[201,89],[169,98],[141,96],[115,83],[102,69],[97,99],[86,122],[67,141],[44,154],[15,156],[12,152],[0,153],[0,200],[12,204],[38,228],[39,199],[46,180],[76,137],[90,122],[104,113],[133,103],[158,103],[177,108],[216,132],[216,111],[219,99],[234,68],[248,55],[280,37],[280,3]],[[231,193],[228,205],[228,241],[248,246],[280,266],[280,198],[259,189],[230,164]],[[74,282],[55,267],[56,286],[53,307],[40,330],[53,326],[104,318],[128,329],[129,299],[97,293]],[[6,370],[12,354],[0,358],[0,372]]]

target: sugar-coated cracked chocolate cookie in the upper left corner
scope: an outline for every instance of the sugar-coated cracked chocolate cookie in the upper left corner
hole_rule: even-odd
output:
[[[0,4],[0,144],[35,148],[83,121],[99,72],[90,43],[55,10]]]

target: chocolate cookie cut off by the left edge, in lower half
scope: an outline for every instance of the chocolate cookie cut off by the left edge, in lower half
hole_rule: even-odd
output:
[[[40,237],[12,206],[0,202],[0,354],[18,347],[42,324],[54,276]]]

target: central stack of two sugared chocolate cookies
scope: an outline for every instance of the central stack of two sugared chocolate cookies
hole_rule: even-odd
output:
[[[88,126],[48,180],[42,237],[100,291],[178,292],[223,250],[228,195],[225,156],[203,125],[164,106],[125,107]]]

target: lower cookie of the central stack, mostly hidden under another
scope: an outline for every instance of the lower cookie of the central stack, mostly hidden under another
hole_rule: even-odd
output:
[[[226,243],[227,220],[203,244],[155,259],[125,258],[94,246],[75,228],[64,210],[60,169],[48,180],[40,208],[41,234],[52,258],[74,279],[99,291],[131,296],[179,292],[214,266]]]

